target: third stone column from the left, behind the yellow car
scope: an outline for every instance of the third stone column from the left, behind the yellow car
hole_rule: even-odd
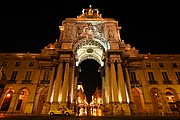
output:
[[[68,98],[68,93],[69,93],[68,81],[69,81],[69,60],[66,61],[65,72],[64,72],[64,81],[63,81],[63,87],[62,87],[61,103],[64,106],[66,106],[66,104],[67,104],[67,98]]]

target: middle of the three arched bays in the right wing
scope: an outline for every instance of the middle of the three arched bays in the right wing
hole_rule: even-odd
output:
[[[152,88],[150,90],[150,95],[153,103],[154,112],[157,114],[165,112],[165,105],[162,99],[161,91],[157,88]]]

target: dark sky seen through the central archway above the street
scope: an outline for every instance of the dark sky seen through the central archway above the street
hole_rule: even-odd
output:
[[[99,72],[100,64],[93,59],[86,59],[79,64],[80,72],[78,83],[81,83],[88,103],[92,102],[92,96],[101,96],[102,78]],[[97,95],[98,94],[98,95]]]

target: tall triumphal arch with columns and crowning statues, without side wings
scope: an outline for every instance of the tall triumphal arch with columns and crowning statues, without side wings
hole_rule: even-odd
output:
[[[102,109],[121,111],[120,114],[123,111],[127,115],[135,111],[127,59],[130,54],[138,55],[138,51],[121,40],[118,22],[103,18],[98,9],[90,6],[77,18],[64,20],[59,29],[59,40],[42,50],[42,54],[49,54],[51,49],[58,51],[54,56],[58,67],[56,73],[52,73],[56,75],[54,82],[50,83],[43,113],[62,105],[72,108],[76,104],[79,65],[87,59],[100,65]]]

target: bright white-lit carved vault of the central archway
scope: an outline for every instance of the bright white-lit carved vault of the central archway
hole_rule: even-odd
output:
[[[76,54],[76,66],[86,59],[94,59],[103,66],[104,52],[108,49],[109,45],[105,40],[95,38],[79,40],[73,46],[73,50]]]

